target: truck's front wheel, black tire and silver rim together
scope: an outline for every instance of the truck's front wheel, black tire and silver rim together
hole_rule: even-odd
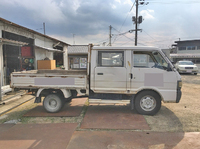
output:
[[[135,98],[135,109],[142,115],[155,115],[161,108],[161,98],[153,91],[142,91]]]

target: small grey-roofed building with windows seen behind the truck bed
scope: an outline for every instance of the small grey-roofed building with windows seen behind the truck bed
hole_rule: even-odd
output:
[[[71,45],[68,46],[68,66],[69,70],[87,69],[88,45]]]

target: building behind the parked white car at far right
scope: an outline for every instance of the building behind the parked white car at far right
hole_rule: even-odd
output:
[[[177,53],[170,54],[174,62],[180,60],[190,60],[195,64],[200,64],[200,40],[175,41]]]

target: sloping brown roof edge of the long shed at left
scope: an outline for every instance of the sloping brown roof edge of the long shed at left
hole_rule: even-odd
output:
[[[31,29],[28,29],[28,28],[26,28],[26,27],[20,26],[20,25],[18,25],[18,24],[15,24],[15,23],[13,23],[13,22],[10,22],[10,21],[8,21],[8,20],[5,20],[5,19],[3,19],[3,18],[1,18],[1,17],[0,17],[0,21],[2,21],[2,22],[5,23],[5,24],[13,25],[13,26],[15,26],[15,27],[24,29],[24,30],[29,31],[29,32],[31,32],[31,33],[34,33],[34,34],[37,34],[37,35],[40,35],[40,36],[49,38],[49,39],[51,39],[51,40],[55,40],[55,41],[57,41],[57,42],[61,42],[61,43],[63,43],[63,44],[69,45],[69,44],[66,43],[66,42],[60,41],[60,40],[58,40],[58,39],[55,39],[55,38],[52,38],[52,37],[50,37],[50,36],[47,36],[47,35],[41,34],[41,33],[39,33],[39,32],[36,32],[36,31],[34,31],[34,30],[31,30]]]

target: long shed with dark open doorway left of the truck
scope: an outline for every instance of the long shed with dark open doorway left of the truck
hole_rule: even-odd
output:
[[[0,18],[0,89],[10,84],[10,73],[37,69],[38,60],[48,58],[68,68],[68,45]]]

